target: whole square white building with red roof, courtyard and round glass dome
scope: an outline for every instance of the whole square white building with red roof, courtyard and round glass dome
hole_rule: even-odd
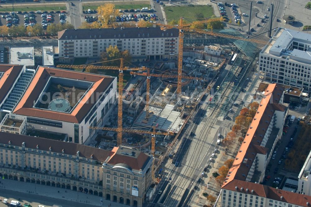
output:
[[[95,133],[89,127],[102,125],[116,104],[112,76],[38,67],[24,87],[8,113],[26,116],[33,129],[67,134],[69,142],[88,144]]]

